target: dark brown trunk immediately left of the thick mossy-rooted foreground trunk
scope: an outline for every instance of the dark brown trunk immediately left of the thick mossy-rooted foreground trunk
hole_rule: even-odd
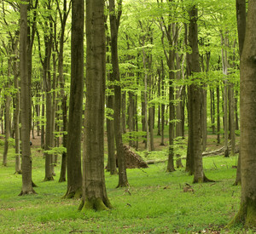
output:
[[[84,1],[72,2],[71,86],[67,130],[67,193],[82,196],[81,134],[84,91]],[[87,89],[88,90],[88,89]]]

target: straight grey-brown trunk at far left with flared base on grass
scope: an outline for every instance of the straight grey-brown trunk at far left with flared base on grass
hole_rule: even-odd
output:
[[[28,83],[27,64],[27,6],[28,0],[20,3],[20,94],[21,94],[21,170],[22,190],[20,195],[33,194],[32,158],[30,151],[30,86]]]

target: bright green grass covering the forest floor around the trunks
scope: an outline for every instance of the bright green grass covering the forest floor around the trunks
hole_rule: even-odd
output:
[[[232,185],[236,178],[236,169],[231,168],[236,163],[235,157],[204,158],[207,177],[216,182],[200,185],[192,185],[192,176],[183,169],[166,173],[166,163],[128,169],[130,193],[127,188],[116,189],[118,177],[106,173],[108,198],[114,208],[84,213],[78,211],[78,200],[61,199],[67,183],[57,182],[60,163],[55,168],[55,180],[43,182],[44,159],[38,153],[34,153],[37,156],[33,157],[32,164],[38,194],[19,197],[21,175],[14,174],[15,157],[12,155],[11,150],[8,167],[0,166],[1,233],[244,231],[240,226],[233,230],[224,228],[240,203],[241,187]],[[2,156],[0,160],[2,162]],[[183,192],[185,183],[192,185],[195,192]]]

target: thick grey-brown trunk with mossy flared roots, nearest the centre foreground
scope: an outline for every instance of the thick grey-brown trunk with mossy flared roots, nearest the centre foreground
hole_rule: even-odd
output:
[[[73,8],[84,9],[81,7],[83,2],[83,0],[73,1]],[[79,15],[79,12],[77,14]],[[80,14],[82,14],[81,11]],[[85,22],[86,103],[83,143],[83,200],[79,209],[102,210],[111,208],[104,176],[106,85],[104,0],[86,1]]]

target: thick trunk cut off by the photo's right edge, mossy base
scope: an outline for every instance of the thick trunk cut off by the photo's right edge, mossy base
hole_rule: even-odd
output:
[[[241,53],[241,205],[230,225],[256,227],[256,2],[248,2],[247,27]]]

